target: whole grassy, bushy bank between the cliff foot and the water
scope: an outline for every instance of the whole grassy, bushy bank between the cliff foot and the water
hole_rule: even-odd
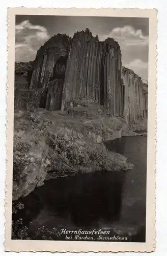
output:
[[[97,107],[97,105],[96,105]],[[99,114],[98,114],[99,113]],[[91,119],[90,119],[91,118]],[[108,152],[102,141],[128,131],[123,119],[94,108],[89,119],[67,112],[18,111],[14,117],[13,200],[25,197],[48,178],[96,170],[126,170],[126,157]]]

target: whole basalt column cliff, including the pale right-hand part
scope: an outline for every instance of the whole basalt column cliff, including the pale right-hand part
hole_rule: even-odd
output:
[[[147,117],[142,79],[122,67],[112,38],[99,41],[89,29],[73,38],[55,35],[38,50],[33,66],[27,88],[15,90],[15,109],[68,110],[86,98],[127,122]]]

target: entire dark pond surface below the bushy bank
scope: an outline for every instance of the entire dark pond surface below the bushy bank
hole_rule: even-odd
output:
[[[47,228],[111,228],[135,233],[145,242],[147,137],[123,137],[105,143],[135,166],[126,172],[77,174],[45,181],[26,198],[24,220],[31,232]],[[26,216],[26,217],[25,217]]]

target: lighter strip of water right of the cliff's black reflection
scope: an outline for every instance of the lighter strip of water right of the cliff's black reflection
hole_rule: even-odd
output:
[[[125,174],[121,222],[143,225],[146,215],[147,137],[123,137],[107,142],[108,150],[125,155],[134,164]]]

